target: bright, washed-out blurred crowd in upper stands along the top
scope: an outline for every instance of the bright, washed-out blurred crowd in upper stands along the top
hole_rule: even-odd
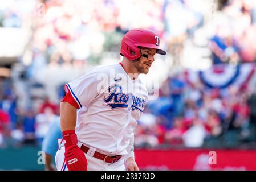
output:
[[[16,0],[0,5],[0,26],[31,31],[21,58],[31,77],[47,64],[99,63],[103,52],[118,52],[123,34],[136,27],[159,34],[174,64],[184,42],[207,23],[213,63],[256,57],[256,2],[251,0]]]

